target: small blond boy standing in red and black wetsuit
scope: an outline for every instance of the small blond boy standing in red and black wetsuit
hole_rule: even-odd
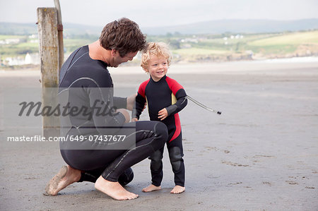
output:
[[[136,97],[136,114],[132,121],[138,121],[145,102],[152,121],[162,121],[168,129],[167,150],[172,171],[175,174],[175,188],[170,193],[182,193],[184,188],[184,162],[182,133],[179,111],[187,105],[187,94],[176,80],[166,76],[170,66],[171,54],[163,42],[150,42],[141,58],[141,67],[150,74],[150,78],[141,83]],[[134,118],[135,117],[135,118]],[[163,147],[164,148],[164,147]],[[151,159],[150,186],[143,192],[160,190],[163,180],[163,148],[149,157]]]

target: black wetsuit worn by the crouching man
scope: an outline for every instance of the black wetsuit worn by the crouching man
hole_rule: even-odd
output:
[[[99,143],[90,140],[60,142],[64,161],[83,173],[80,181],[95,182],[100,175],[108,181],[123,185],[133,178],[131,166],[163,147],[167,128],[157,121],[124,123],[121,113],[113,107],[126,108],[126,98],[114,97],[112,78],[107,64],[91,59],[88,46],[81,47],[69,56],[61,67],[59,95],[67,92],[69,107],[85,107],[86,114],[61,116],[61,135],[64,137],[92,137],[91,135],[126,135],[122,143]],[[98,109],[105,111],[98,115]],[[133,131],[126,128],[134,128]],[[102,136],[100,136],[102,137]]]

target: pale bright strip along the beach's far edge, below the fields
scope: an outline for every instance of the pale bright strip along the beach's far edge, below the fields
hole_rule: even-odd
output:
[[[260,66],[264,64],[264,66]],[[290,67],[287,67],[290,66]],[[229,73],[235,71],[264,71],[269,68],[300,68],[318,67],[318,56],[293,57],[288,59],[265,59],[251,61],[223,61],[223,62],[200,62],[200,63],[184,63],[171,64],[169,74],[209,74],[209,73]],[[112,75],[145,75],[140,66],[124,65],[118,68],[109,67],[108,70]],[[40,76],[40,66],[38,68],[21,68],[16,70],[0,69],[0,77],[11,76]]]

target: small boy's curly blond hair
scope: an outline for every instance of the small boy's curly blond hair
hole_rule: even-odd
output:
[[[167,65],[170,66],[171,53],[169,47],[164,42],[148,42],[146,49],[142,51],[140,66],[146,71],[151,56],[155,55],[167,59]]]

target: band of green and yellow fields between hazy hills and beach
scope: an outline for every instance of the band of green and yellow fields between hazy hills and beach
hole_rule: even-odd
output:
[[[18,44],[3,44],[18,38]],[[98,38],[90,36],[64,38],[66,54]],[[27,35],[0,35],[0,56],[25,56],[38,52],[36,38]],[[233,60],[318,55],[318,30],[267,34],[165,35],[148,36],[150,42],[170,44],[177,61]]]

